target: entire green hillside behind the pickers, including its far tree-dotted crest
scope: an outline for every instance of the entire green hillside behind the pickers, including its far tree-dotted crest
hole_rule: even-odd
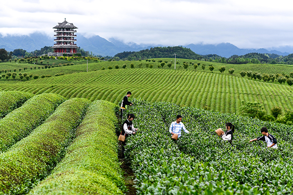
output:
[[[49,59],[54,60],[54,59]],[[174,59],[161,59],[171,61]],[[86,71],[85,64],[60,66],[40,70],[33,68],[25,71],[27,74],[51,75],[64,73],[64,76],[38,78],[28,81],[20,81],[9,78],[0,79],[0,90],[19,90],[33,94],[57,93],[65,98],[82,97],[90,100],[104,99],[118,103],[126,91],[133,93],[133,98],[143,98],[148,101],[169,101],[182,106],[204,107],[225,112],[239,113],[241,100],[259,101],[265,106],[267,113],[273,106],[293,109],[292,86],[263,82],[254,79],[242,78],[239,73],[242,70],[258,71],[260,73],[285,73],[293,72],[291,65],[271,64],[222,64],[198,60],[179,59],[180,64],[170,68],[165,65],[158,68],[159,59],[153,61],[105,61],[91,62],[88,64],[90,72]],[[204,63],[203,71],[199,66],[196,71],[189,64],[188,69],[183,68],[183,61]],[[130,68],[133,63],[134,68]],[[126,64],[126,69],[122,66]],[[146,68],[146,64],[153,68]],[[213,64],[213,73],[209,71],[209,64]],[[30,67],[31,64],[1,63],[13,69],[17,67]],[[114,67],[118,65],[119,69]],[[41,65],[40,65],[41,66]],[[43,66],[43,65],[42,65]],[[113,69],[109,70],[111,66]],[[141,68],[139,68],[139,66]],[[181,67],[180,67],[181,66]],[[221,74],[218,68],[226,66],[226,71]],[[1,66],[2,67],[2,66]],[[105,70],[102,70],[105,68]],[[234,68],[233,75],[228,70]],[[4,68],[0,68],[4,69]],[[179,69],[179,70],[178,70]],[[96,71],[93,71],[96,70]],[[17,71],[19,72],[19,71]],[[23,71],[21,71],[23,72]],[[24,73],[24,72],[23,72]]]

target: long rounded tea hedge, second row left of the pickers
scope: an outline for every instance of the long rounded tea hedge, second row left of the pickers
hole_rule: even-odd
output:
[[[28,137],[0,154],[0,194],[25,194],[64,156],[90,101],[72,98]]]

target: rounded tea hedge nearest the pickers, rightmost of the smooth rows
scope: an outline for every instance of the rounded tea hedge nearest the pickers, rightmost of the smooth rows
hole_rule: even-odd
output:
[[[114,108],[114,104],[103,100],[88,107],[65,157],[30,195],[123,194]]]

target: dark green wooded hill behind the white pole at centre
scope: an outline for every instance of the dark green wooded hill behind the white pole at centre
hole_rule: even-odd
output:
[[[176,58],[181,59],[202,59],[201,55],[198,55],[191,51],[191,49],[175,46],[175,47],[153,47],[150,49],[141,50],[139,52],[122,52],[116,54],[115,57],[120,59],[136,60],[136,59],[151,59],[151,58]]]

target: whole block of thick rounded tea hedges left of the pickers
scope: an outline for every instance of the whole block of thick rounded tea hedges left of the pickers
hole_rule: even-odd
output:
[[[11,92],[0,97],[7,99]],[[15,101],[0,109],[9,111]],[[0,194],[126,192],[117,155],[116,107],[103,100],[41,94],[11,111],[0,120]]]

